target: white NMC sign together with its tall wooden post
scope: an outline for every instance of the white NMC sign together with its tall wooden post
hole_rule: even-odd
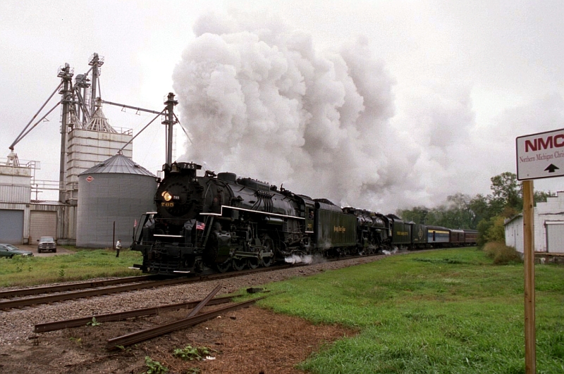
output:
[[[523,181],[525,259],[525,373],[537,373],[534,324],[534,179],[564,175],[564,129],[515,139],[517,180]]]

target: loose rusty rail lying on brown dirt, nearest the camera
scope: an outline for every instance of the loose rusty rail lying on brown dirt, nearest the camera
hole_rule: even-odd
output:
[[[256,299],[243,301],[238,304],[233,304],[231,306],[219,308],[214,311],[209,311],[207,313],[202,313],[198,316],[185,318],[183,320],[177,320],[176,322],[173,323],[166,323],[164,325],[157,326],[156,328],[149,328],[147,330],[132,332],[131,334],[128,335],[114,337],[112,339],[108,339],[106,348],[113,349],[114,347],[118,347],[118,346],[125,347],[127,345],[143,342],[144,340],[152,339],[153,337],[158,337],[160,335],[164,335],[168,332],[173,332],[181,328],[188,328],[192,325],[197,325],[198,323],[202,323],[216,316],[219,316],[221,313],[234,311],[235,309],[244,308],[245,306],[255,304],[257,300],[264,299],[265,297],[266,296],[257,297]]]

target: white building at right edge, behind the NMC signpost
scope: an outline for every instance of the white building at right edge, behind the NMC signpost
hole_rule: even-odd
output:
[[[505,244],[523,253],[523,216],[505,220]],[[534,251],[564,254],[564,192],[534,207]]]

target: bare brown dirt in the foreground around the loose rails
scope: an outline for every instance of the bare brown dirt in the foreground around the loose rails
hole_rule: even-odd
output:
[[[186,313],[180,310],[153,318],[47,332],[30,337],[25,344],[6,344],[0,347],[0,371],[145,373],[145,356],[149,356],[166,366],[168,373],[302,373],[295,364],[326,342],[354,334],[339,326],[312,325],[251,306],[122,351],[105,349],[106,339],[185,318]],[[173,356],[174,349],[188,345],[214,349],[214,359],[182,361]]]

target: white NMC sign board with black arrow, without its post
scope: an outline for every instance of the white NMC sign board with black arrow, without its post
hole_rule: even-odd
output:
[[[564,175],[564,129],[515,139],[517,180]]]

